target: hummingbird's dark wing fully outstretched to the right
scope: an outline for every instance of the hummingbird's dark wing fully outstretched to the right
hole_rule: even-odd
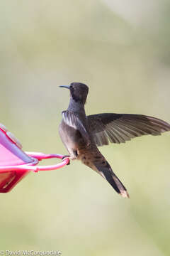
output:
[[[170,124],[142,114],[92,114],[88,116],[91,133],[97,146],[122,143],[146,134],[160,135]]]

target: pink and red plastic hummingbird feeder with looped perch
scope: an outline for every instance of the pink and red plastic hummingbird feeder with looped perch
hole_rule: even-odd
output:
[[[6,193],[16,186],[30,171],[56,170],[69,164],[64,159],[60,164],[37,166],[43,159],[62,159],[61,154],[43,154],[38,152],[24,152],[21,143],[0,124],[0,193]]]

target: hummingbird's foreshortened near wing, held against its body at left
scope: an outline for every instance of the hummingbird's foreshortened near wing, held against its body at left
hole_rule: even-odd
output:
[[[86,131],[84,124],[81,122],[79,117],[77,117],[77,114],[66,110],[66,111],[62,112],[62,118],[63,118],[64,122],[67,125],[69,125],[69,127],[79,130],[79,132],[81,133],[81,136],[84,138],[85,142],[87,144],[90,144],[89,134]]]

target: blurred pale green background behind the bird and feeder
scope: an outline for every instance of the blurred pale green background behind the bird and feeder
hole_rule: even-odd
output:
[[[169,1],[0,1],[0,20],[0,121],[23,150],[67,154],[70,82],[89,85],[86,114],[170,122]],[[0,250],[170,255],[169,136],[101,148],[130,200],[79,161],[29,174],[0,195]]]

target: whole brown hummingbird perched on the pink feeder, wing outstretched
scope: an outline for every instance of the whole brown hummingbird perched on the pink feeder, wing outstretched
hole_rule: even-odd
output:
[[[84,105],[89,87],[81,82],[61,85],[70,92],[69,107],[62,112],[59,127],[60,137],[70,160],[81,160],[83,164],[100,174],[121,196],[129,194],[116,176],[98,146],[125,143],[146,134],[160,135],[170,130],[170,124],[143,114],[91,114],[86,116]]]

